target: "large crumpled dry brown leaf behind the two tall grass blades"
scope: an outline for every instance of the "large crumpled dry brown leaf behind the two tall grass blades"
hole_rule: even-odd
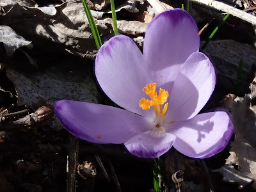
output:
[[[92,10],[102,42],[113,36],[112,19],[104,18],[104,13]],[[0,18],[0,22],[31,40],[35,48],[51,52],[67,51],[86,58],[95,57],[97,47],[81,1],[70,1],[49,8],[15,4]],[[143,22],[118,21],[118,30],[124,35],[143,35],[146,29],[147,24]]]

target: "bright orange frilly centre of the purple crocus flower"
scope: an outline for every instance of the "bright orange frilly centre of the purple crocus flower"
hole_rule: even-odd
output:
[[[145,98],[141,99],[139,104],[140,107],[142,109],[147,110],[153,106],[154,111],[156,113],[156,118],[162,119],[168,108],[168,102],[166,102],[166,100],[169,97],[169,93],[166,90],[160,88],[159,93],[157,95],[156,83],[147,84],[145,88],[143,88],[143,92],[145,92],[150,97],[151,100]],[[166,104],[164,104],[164,102],[166,102]]]

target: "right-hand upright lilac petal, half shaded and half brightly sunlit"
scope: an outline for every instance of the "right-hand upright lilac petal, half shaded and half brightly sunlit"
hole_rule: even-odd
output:
[[[194,52],[175,79],[169,97],[168,119],[182,121],[193,118],[205,106],[215,86],[215,71],[202,52]]]

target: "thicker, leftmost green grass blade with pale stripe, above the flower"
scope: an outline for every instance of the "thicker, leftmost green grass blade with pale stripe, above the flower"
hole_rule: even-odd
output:
[[[84,6],[84,11],[86,13],[88,22],[90,24],[90,28],[92,29],[92,35],[93,35],[95,43],[97,45],[97,49],[100,49],[102,43],[101,43],[101,40],[100,40],[99,31],[98,31],[97,26],[95,24],[95,21],[92,17],[91,10],[90,10],[88,4],[86,3],[86,0],[82,0],[82,2],[83,2],[83,6]]]

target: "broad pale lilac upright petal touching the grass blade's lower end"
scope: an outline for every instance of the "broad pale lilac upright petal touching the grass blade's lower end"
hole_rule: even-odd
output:
[[[152,83],[152,79],[140,49],[131,38],[114,36],[100,47],[95,75],[106,95],[122,108],[142,116],[154,113],[154,110],[143,110],[139,106],[146,96],[142,89]]]

